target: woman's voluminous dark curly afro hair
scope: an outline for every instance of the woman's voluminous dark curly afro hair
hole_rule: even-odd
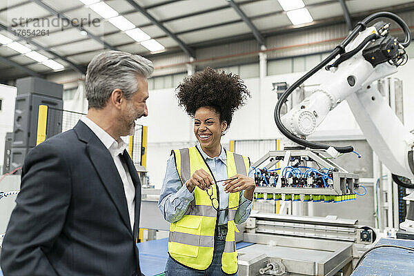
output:
[[[235,110],[244,106],[250,92],[239,75],[206,67],[186,77],[175,90],[179,106],[194,117],[201,107],[213,108],[220,121],[227,122],[227,129]]]

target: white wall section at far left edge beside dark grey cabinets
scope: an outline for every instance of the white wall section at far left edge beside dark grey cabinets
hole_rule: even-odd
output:
[[[13,131],[14,105],[16,103],[17,88],[0,84],[0,166],[3,166],[4,143],[6,132]],[[0,170],[0,173],[3,170]]]

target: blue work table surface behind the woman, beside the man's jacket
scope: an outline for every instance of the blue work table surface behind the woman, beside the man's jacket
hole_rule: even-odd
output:
[[[248,242],[238,242],[236,248],[250,246]],[[139,249],[139,265],[141,272],[146,276],[155,276],[164,273],[168,259],[168,238],[155,239],[137,244]],[[3,276],[0,270],[0,276]]]

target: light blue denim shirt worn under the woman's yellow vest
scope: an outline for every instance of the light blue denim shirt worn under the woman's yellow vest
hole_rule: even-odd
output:
[[[221,153],[218,157],[209,157],[201,149],[199,143],[197,143],[197,148],[203,155],[206,160],[208,167],[210,167],[211,172],[216,181],[227,179],[227,156],[224,148],[221,146]],[[248,172],[249,177],[254,177],[253,170],[250,167]],[[219,197],[220,197],[220,209],[228,208],[228,193],[224,192],[224,187],[222,183],[218,183],[219,187]],[[190,204],[190,201],[194,199],[194,190],[193,193],[190,193],[188,188],[185,185],[181,184],[177,168],[175,168],[175,159],[171,155],[167,161],[167,170],[166,176],[164,177],[164,183],[162,185],[161,194],[159,195],[158,208],[161,210],[164,219],[168,222],[179,221],[183,217],[184,213]],[[242,224],[248,216],[253,207],[253,201],[250,201],[244,197],[244,190],[240,191],[240,200],[239,208],[237,208],[235,223]],[[227,224],[228,211],[221,211],[219,214],[219,224]]]

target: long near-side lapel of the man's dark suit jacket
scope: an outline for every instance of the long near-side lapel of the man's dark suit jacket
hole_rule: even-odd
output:
[[[83,124],[82,121],[79,121],[74,129],[75,132],[77,132],[78,138],[81,141],[86,142],[86,152],[88,152],[90,161],[92,161],[103,186],[105,186],[106,191],[117,207],[121,219],[124,221],[124,224],[126,224],[132,235],[124,184],[122,184],[121,177],[119,176],[119,172],[110,152],[92,130],[90,130],[86,124]]]

